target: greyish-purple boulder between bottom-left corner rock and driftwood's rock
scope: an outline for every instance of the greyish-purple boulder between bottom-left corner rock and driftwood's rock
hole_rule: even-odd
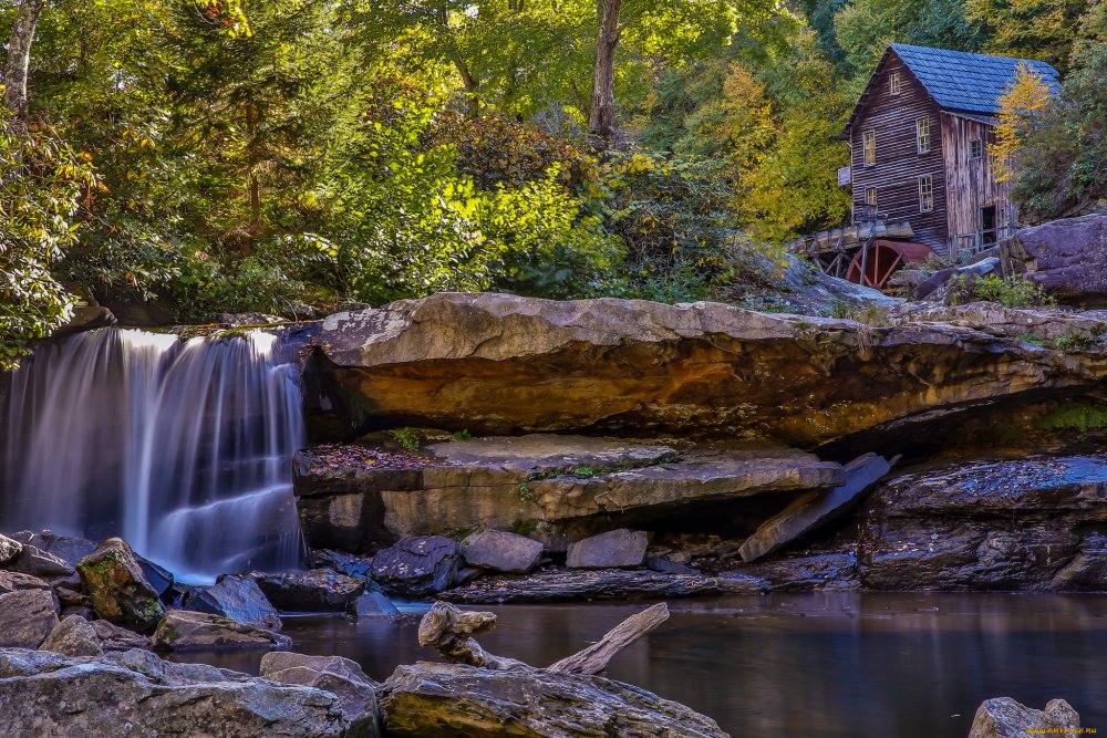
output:
[[[345,738],[377,738],[377,684],[361,667],[341,656],[308,656],[276,652],[261,657],[261,676],[271,682],[299,684],[329,692],[350,720]]]

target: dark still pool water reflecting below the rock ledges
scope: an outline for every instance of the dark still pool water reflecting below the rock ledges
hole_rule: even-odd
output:
[[[489,607],[490,652],[544,665],[640,605]],[[610,676],[685,703],[734,736],[964,738],[976,706],[1064,697],[1107,730],[1107,596],[850,594],[672,603],[671,620]],[[340,654],[383,679],[432,658],[415,625],[290,620],[297,651]],[[193,656],[194,658],[196,656]],[[256,673],[259,656],[200,656]]]

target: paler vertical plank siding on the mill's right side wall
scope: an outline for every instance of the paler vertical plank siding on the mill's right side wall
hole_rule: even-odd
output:
[[[971,142],[981,142],[980,158],[972,158]],[[950,236],[974,233],[982,227],[981,208],[995,206],[995,225],[1017,220],[1011,202],[1011,187],[995,180],[989,145],[995,143],[992,126],[942,113],[942,153],[945,158],[945,189],[950,194],[948,228]]]

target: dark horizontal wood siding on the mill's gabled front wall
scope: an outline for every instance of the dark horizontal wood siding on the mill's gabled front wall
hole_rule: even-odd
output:
[[[889,90],[893,72],[900,75],[898,95]],[[945,253],[946,183],[941,110],[894,52],[886,55],[877,69],[866,98],[849,132],[855,209],[860,210],[865,204],[866,190],[876,187],[881,216],[889,221],[909,221],[915,233],[913,240]],[[931,143],[927,154],[919,154],[915,139],[915,121],[922,117],[930,119]],[[865,132],[870,129],[877,136],[877,163],[865,166]],[[934,187],[934,208],[929,212],[919,208],[919,177],[924,175],[931,177]]]

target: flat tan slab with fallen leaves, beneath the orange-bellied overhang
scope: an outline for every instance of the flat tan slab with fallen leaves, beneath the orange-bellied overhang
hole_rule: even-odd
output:
[[[355,448],[308,449],[293,461],[302,528],[313,548],[356,552],[413,536],[490,528],[563,551],[571,541],[690,506],[845,481],[837,462],[765,446],[531,435],[437,444],[402,460],[384,449]]]

